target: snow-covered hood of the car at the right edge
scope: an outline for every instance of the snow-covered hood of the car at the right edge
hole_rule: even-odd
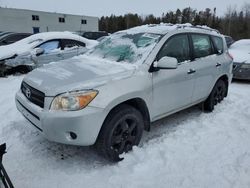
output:
[[[233,56],[233,61],[236,63],[250,63],[250,49],[229,49],[229,53]]]

